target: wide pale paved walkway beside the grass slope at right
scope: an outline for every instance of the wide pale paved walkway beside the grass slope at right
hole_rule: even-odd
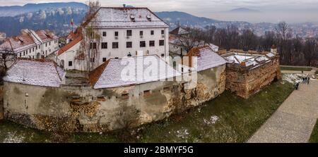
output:
[[[305,143],[318,118],[318,80],[300,84],[249,143]]]

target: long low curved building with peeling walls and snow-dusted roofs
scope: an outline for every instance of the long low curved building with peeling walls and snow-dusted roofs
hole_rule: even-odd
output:
[[[4,117],[61,132],[105,132],[163,120],[225,90],[225,59],[210,48],[194,54],[204,63],[192,89],[156,55],[110,59],[87,75],[88,84],[76,85],[52,61],[18,59],[4,77]]]

